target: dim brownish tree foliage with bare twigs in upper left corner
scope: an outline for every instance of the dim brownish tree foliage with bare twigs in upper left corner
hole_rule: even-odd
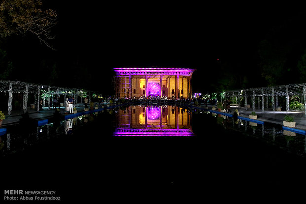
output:
[[[42,0],[2,0],[0,3],[0,36],[31,33],[41,43],[53,49],[48,41],[53,39],[51,28],[56,24],[56,12],[43,11]]]

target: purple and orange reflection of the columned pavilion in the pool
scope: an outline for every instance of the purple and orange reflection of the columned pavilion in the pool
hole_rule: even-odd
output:
[[[194,136],[191,112],[177,106],[129,106],[116,122],[114,136]]]

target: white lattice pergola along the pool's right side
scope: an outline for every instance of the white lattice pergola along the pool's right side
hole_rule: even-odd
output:
[[[278,97],[286,97],[286,112],[288,113],[290,110],[289,106],[289,97],[290,96],[303,96],[304,102],[304,113],[306,117],[306,83],[302,84],[289,84],[289,85],[281,85],[281,86],[271,86],[271,87],[260,87],[260,88],[249,88],[243,90],[231,90],[226,91],[225,95],[227,97],[232,96],[233,99],[239,99],[244,96],[245,100],[245,108],[247,109],[247,97],[252,97],[252,108],[255,111],[255,98],[258,99],[258,109],[260,109],[260,101],[261,101],[261,109],[264,111],[265,109],[265,101],[266,98],[266,108],[268,108],[268,98],[270,97],[272,101],[272,110],[275,111],[275,107],[278,107]],[[261,100],[260,100],[261,99]]]

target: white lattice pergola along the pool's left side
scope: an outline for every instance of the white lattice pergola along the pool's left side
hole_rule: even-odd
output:
[[[26,83],[21,81],[9,81],[9,80],[0,80],[0,94],[1,93],[8,93],[8,107],[7,107],[7,115],[11,114],[12,107],[13,107],[13,93],[23,94],[23,105],[22,109],[24,112],[27,111],[28,107],[28,95],[34,95],[34,102],[37,111],[39,111],[39,99],[42,98],[42,95],[46,93],[51,97],[47,97],[48,106],[50,104],[50,99],[53,99],[54,96],[57,98],[60,95],[64,95],[64,100],[66,99],[67,95],[74,96],[76,99],[76,103],[78,97],[80,96],[81,103],[83,93],[87,93],[89,96],[89,102],[91,101],[91,93],[92,91],[83,90],[83,89],[76,89],[76,88],[64,88],[64,87],[56,87],[56,86],[49,86],[49,85],[42,85],[42,84],[33,84],[33,83]],[[44,99],[45,100],[45,99]],[[44,101],[45,103],[45,101]]]

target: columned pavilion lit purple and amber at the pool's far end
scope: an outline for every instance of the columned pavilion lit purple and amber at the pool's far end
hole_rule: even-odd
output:
[[[116,97],[192,98],[192,68],[114,68]]]

